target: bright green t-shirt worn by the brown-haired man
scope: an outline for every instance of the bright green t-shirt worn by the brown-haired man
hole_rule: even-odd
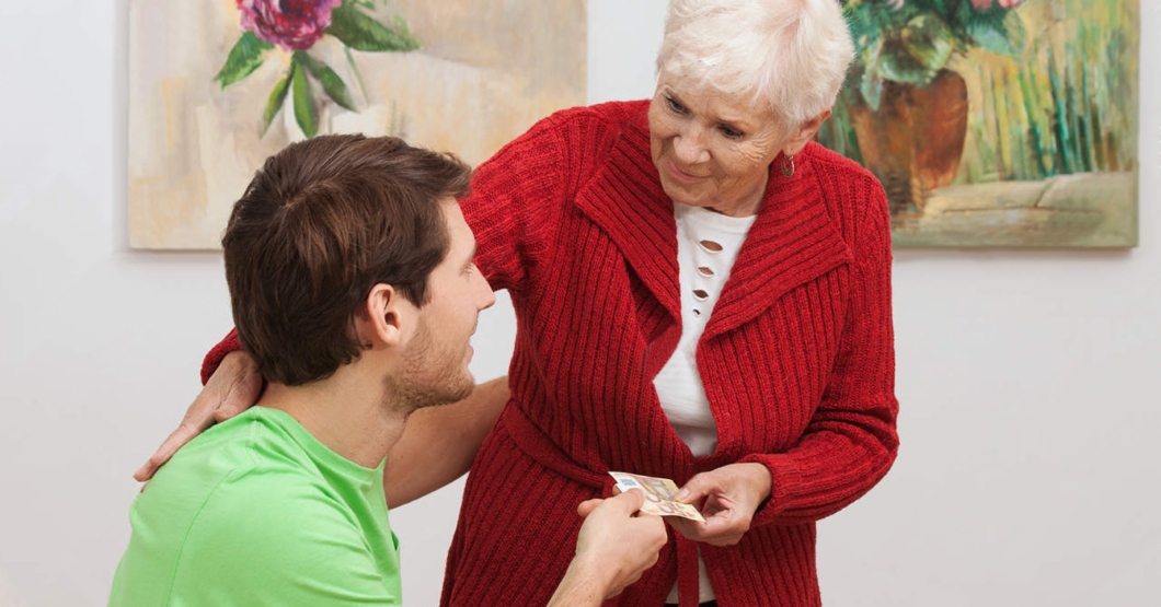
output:
[[[402,604],[383,463],[344,459],[282,411],[190,441],[129,520],[110,607]]]

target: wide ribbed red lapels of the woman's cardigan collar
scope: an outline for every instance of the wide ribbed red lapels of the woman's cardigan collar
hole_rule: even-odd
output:
[[[649,155],[648,103],[626,104],[622,124],[601,168],[578,190],[576,206],[601,227],[657,301],[680,323],[673,202]],[[611,120],[612,122],[612,120]],[[765,199],[738,251],[730,278],[702,334],[708,339],[752,320],[792,288],[851,261],[827,211],[810,159],[795,158],[792,177],[771,166]]]

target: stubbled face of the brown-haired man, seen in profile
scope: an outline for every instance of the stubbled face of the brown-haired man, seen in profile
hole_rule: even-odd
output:
[[[475,380],[468,372],[479,310],[496,304],[488,281],[473,263],[476,239],[460,205],[440,205],[450,243],[447,256],[427,279],[428,301],[419,308],[419,326],[403,350],[403,373],[396,390],[419,409],[467,397]]]

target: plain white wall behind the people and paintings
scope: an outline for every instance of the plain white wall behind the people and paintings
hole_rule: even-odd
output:
[[[127,1],[0,3],[0,607],[104,604],[130,474],[230,326],[218,255],[127,244]],[[903,445],[820,526],[828,606],[1161,605],[1161,2],[1141,3],[1141,246],[897,253]],[[591,0],[592,101],[651,92],[663,8]],[[511,349],[498,308],[478,376]],[[457,497],[394,513],[411,605],[437,600]]]

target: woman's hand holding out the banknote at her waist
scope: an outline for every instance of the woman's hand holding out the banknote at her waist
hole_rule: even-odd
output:
[[[750,531],[753,513],[771,490],[770,470],[760,463],[731,463],[701,473],[673,496],[693,504],[705,522],[665,517],[682,535],[713,546],[737,543]]]

